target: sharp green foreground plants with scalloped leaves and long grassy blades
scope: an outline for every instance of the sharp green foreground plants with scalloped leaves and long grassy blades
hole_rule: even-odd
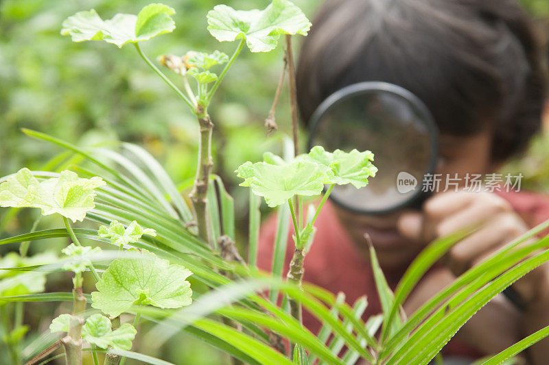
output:
[[[65,160],[74,161],[75,156],[79,157],[71,164],[71,171],[47,173],[22,169],[0,180],[3,181],[0,205],[39,207],[44,215],[60,214],[65,225],[65,229],[32,229],[30,233],[0,240],[0,244],[21,243],[23,248],[23,257],[3,259],[3,271],[11,275],[0,281],[0,310],[4,319],[10,305],[16,305],[16,310],[21,311],[22,302],[73,302],[72,313],[54,318],[50,326],[52,332],[66,332],[67,336],[33,341],[32,351],[25,355],[25,360],[35,364],[62,346],[68,364],[80,364],[83,351],[91,351],[95,364],[103,353],[105,364],[121,364],[126,358],[166,364],[130,351],[137,330],[143,328],[139,328],[143,318],[152,325],[149,331],[140,332],[148,342],[160,346],[175,333],[184,332],[229,354],[234,363],[314,364],[319,360],[325,364],[354,364],[363,358],[373,364],[428,364],[482,305],[549,259],[548,238],[528,240],[549,226],[545,223],[471,268],[410,318],[404,318],[400,308],[412,288],[452,244],[469,232],[433,242],[412,263],[394,293],[372,249],[372,266],[383,313],[366,323],[362,320],[367,305],[365,298],[351,307],[344,301],[343,294],[334,295],[302,283],[303,260],[307,247],[312,244],[318,212],[336,184],[352,184],[356,188],[367,184],[377,171],[371,164],[373,154],[369,151],[329,153],[321,147],[298,153],[291,36],[306,35],[310,23],[294,4],[274,0],[264,10],[250,11],[215,6],[208,14],[209,32],[220,41],[237,41],[237,47],[231,57],[220,51],[189,51],[183,56],[161,57],[161,64],[178,75],[183,90],[164,75],[139,46],[139,42],[171,32],[173,13],[166,5],[152,4],[137,16],[117,14],[103,21],[91,10],[79,12],[63,23],[62,33],[71,35],[77,42],[105,40],[118,47],[134,45],[141,58],[196,117],[200,149],[189,207],[163,167],[135,144],[121,143],[112,149],[84,148],[24,130],[33,138],[65,149],[62,157],[52,162],[53,170],[65,164]],[[290,79],[294,140],[287,144],[285,150],[289,152],[284,158],[266,153],[264,162],[246,162],[237,169],[237,175],[244,179],[241,185],[250,187],[250,247],[248,260],[244,260],[235,247],[234,201],[221,179],[211,174],[213,123],[208,108],[244,45],[252,52],[271,51],[282,34],[287,60],[283,73],[288,72]],[[219,74],[211,71],[222,65]],[[194,88],[189,77],[195,81]],[[280,89],[281,83],[274,107]],[[273,117],[274,108],[268,117],[268,127],[272,127]],[[328,188],[320,203],[307,209],[305,218],[301,197],[316,197],[325,185]],[[279,207],[272,275],[261,273],[255,265],[258,196],[264,197],[271,207]],[[284,280],[279,276],[289,215],[294,225],[296,249]],[[85,219],[94,228],[97,224],[101,226],[98,230],[74,228],[69,219],[73,223]],[[62,260],[33,261],[34,257],[25,257],[28,242],[60,237],[72,241],[62,250],[65,254]],[[84,247],[80,240],[93,246]],[[100,251],[97,245],[115,249]],[[45,275],[58,270],[74,273],[72,293],[43,292]],[[82,288],[88,272],[97,288],[91,297],[86,296]],[[268,298],[265,290],[270,290]],[[277,304],[279,292],[285,296],[281,305]],[[89,300],[91,308],[88,309]],[[302,306],[323,323],[316,335],[301,325]],[[120,314],[124,313],[134,314],[133,325],[121,323]],[[21,362],[19,342],[26,331],[20,316],[14,326],[9,320],[4,320],[3,325],[5,343],[14,363]],[[381,336],[375,338],[378,329]],[[548,329],[542,329],[485,363],[506,360],[548,333]],[[292,351],[287,351],[284,339],[294,344]],[[82,349],[83,341],[90,347]],[[346,349],[342,353],[343,348]]]

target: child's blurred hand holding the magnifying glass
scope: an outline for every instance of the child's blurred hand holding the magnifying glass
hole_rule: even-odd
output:
[[[400,233],[415,242],[431,242],[454,232],[481,224],[482,227],[456,243],[445,263],[455,275],[478,264],[504,244],[528,230],[511,205],[490,192],[443,192],[425,202],[423,212],[406,213],[399,218]],[[528,303],[546,283],[546,270],[534,270],[513,286]]]

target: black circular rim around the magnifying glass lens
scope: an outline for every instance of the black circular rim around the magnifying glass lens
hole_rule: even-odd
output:
[[[429,162],[428,171],[426,171],[426,173],[434,173],[434,169],[436,168],[436,162],[439,159],[439,129],[436,127],[436,123],[434,123],[434,118],[429,108],[427,108],[427,105],[425,105],[425,103],[423,103],[423,101],[421,101],[421,99],[414,95],[414,93],[412,93],[410,90],[384,81],[363,81],[357,84],[345,86],[344,88],[340,88],[340,90],[337,90],[336,92],[331,94],[322,103],[320,103],[320,105],[318,105],[318,108],[316,108],[316,110],[312,114],[311,119],[309,120],[309,140],[307,141],[307,151],[310,151],[312,147],[314,147],[313,140],[318,133],[318,127],[323,119],[323,116],[325,116],[325,114],[327,114],[332,108],[336,107],[342,101],[354,97],[355,95],[379,91],[388,92],[406,99],[412,104],[414,108],[417,108],[417,111],[421,113],[421,115],[424,117],[424,120],[427,123],[426,125],[429,136],[432,140],[431,159]],[[375,151],[373,152],[375,154]],[[421,183],[423,183],[423,181],[421,181]],[[332,197],[330,195],[329,198],[331,199],[331,201],[334,201],[336,205],[339,205],[340,207],[343,207],[344,209],[351,212],[378,215],[388,214],[404,207],[410,207],[414,205],[416,201],[423,200],[421,199],[423,196],[425,196],[425,192],[423,192],[423,188],[421,188],[418,189],[417,192],[410,196],[410,198],[406,201],[382,210],[366,210],[356,207],[349,207],[349,205],[343,203],[342,201],[338,201],[336,197]]]

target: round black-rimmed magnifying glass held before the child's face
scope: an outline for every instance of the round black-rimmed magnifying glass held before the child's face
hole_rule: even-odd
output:
[[[385,214],[421,207],[428,197],[423,177],[438,158],[438,130],[430,111],[412,92],[367,81],[344,87],[321,103],[310,121],[308,149],[366,149],[378,171],[369,185],[335,186],[330,199],[347,210]]]

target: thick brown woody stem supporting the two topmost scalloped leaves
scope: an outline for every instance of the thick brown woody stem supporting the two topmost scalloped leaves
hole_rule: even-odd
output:
[[[200,143],[198,144],[198,168],[196,169],[194,188],[189,197],[191,198],[194,215],[196,217],[198,237],[207,242],[210,247],[213,247],[213,244],[210,240],[207,214],[208,182],[211,168],[213,166],[213,160],[211,158],[211,131],[213,129],[213,123],[211,123],[210,117],[205,107],[199,104],[196,110],[198,123],[200,124]]]

